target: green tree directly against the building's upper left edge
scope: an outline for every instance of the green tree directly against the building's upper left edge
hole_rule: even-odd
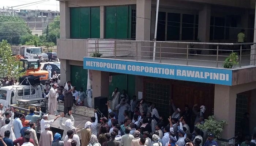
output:
[[[47,30],[46,30],[46,41],[54,42],[55,44],[57,44],[57,39],[60,38],[60,16],[57,16],[52,23],[49,23],[48,31],[49,31],[49,37],[47,37]]]

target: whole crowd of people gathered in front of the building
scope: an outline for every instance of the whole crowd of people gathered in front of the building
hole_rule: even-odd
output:
[[[44,90],[49,114],[56,115],[56,118],[49,120],[49,115],[42,115],[41,109],[39,115],[31,109],[26,116],[13,108],[4,111],[0,103],[0,146],[218,146],[213,133],[197,128],[198,124],[204,124],[204,105],[195,104],[192,108],[185,105],[185,110],[181,111],[171,100],[170,108],[174,112],[164,119],[165,116],[159,115],[155,103],[138,100],[136,96],[130,100],[126,91],[120,93],[118,88],[112,93],[112,104],[106,103],[109,117],[102,117],[101,125],[97,128],[98,116],[97,110],[94,110],[94,115],[81,130],[80,141],[71,110],[74,104],[84,105],[84,99],[91,92],[85,93],[83,88],[76,91],[70,81],[63,87],[53,80],[50,84],[46,82]],[[64,111],[60,115],[57,102],[64,102]],[[63,122],[67,114],[70,119]],[[53,135],[50,130],[50,123],[57,118],[60,118],[62,136],[59,133]],[[38,119],[41,119],[39,141],[35,126]],[[255,139],[256,135],[253,138],[245,137],[241,146],[255,146]]]

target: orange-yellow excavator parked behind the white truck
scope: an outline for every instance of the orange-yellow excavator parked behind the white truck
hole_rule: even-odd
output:
[[[26,72],[24,76],[39,76],[42,84],[49,80],[48,72],[40,69],[39,59],[25,59],[22,55],[15,55],[14,57],[16,60],[22,62],[22,68],[24,69],[23,71]]]

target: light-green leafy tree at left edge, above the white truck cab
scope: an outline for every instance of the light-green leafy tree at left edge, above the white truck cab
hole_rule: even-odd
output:
[[[22,70],[22,62],[12,56],[11,45],[5,40],[0,42],[0,76],[19,79],[24,74]]]

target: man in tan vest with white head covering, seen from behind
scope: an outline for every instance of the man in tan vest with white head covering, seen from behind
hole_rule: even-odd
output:
[[[91,122],[87,121],[84,124],[84,128],[81,131],[81,145],[87,146],[89,144],[90,138],[91,138]]]

